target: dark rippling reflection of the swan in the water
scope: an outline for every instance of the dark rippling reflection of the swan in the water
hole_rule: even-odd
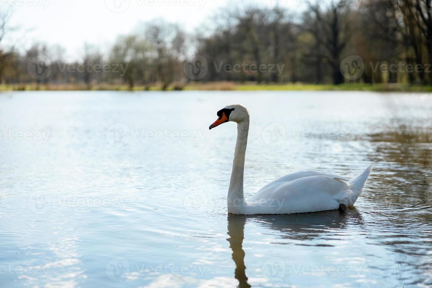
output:
[[[245,251],[243,250],[243,240],[245,238],[245,224],[252,221],[258,225],[282,233],[278,237],[292,240],[313,240],[322,237],[323,234],[330,233],[331,230],[343,229],[348,220],[363,225],[359,212],[351,207],[346,212],[330,210],[302,214],[285,215],[233,215],[228,214],[228,235],[230,248],[232,249],[232,260],[235,263],[235,279],[238,280],[239,288],[251,287],[246,276]],[[301,245],[308,245],[302,243]],[[310,245],[317,245],[310,244]],[[319,245],[327,246],[327,245]],[[328,245],[332,246],[332,245]]]

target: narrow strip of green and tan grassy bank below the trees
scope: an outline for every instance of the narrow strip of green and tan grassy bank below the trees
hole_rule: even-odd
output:
[[[85,84],[61,84],[61,85],[37,85],[37,84],[14,84],[0,85],[0,91],[161,91],[160,85],[137,85],[129,89],[127,85],[85,85]],[[234,82],[207,82],[190,83],[187,85],[173,84],[168,86],[167,91],[189,90],[189,91],[376,91],[376,92],[432,92],[432,86],[407,85],[407,84],[256,84],[256,83],[234,83]]]

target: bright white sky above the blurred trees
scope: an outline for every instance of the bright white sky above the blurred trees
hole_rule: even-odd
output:
[[[0,0],[0,9],[12,7],[13,32],[2,43],[22,51],[32,43],[60,44],[64,58],[83,55],[84,43],[108,51],[118,35],[133,32],[140,22],[164,18],[194,32],[217,9],[235,0]],[[302,0],[246,0],[263,7],[293,6]],[[238,2],[238,1],[237,1]],[[294,3],[294,4],[293,4]]]

